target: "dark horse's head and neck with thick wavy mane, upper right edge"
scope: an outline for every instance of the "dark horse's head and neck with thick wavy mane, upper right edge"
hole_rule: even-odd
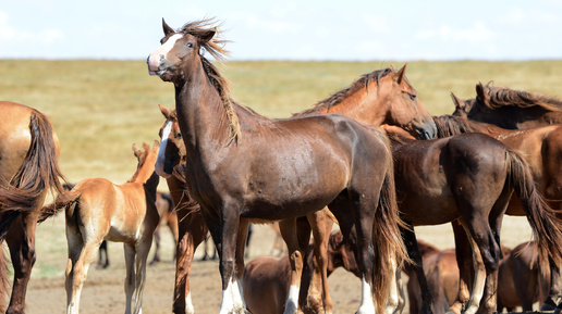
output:
[[[462,102],[466,117],[508,129],[562,124],[562,100],[504,87],[476,85],[476,98]],[[466,102],[466,103],[465,103]]]

